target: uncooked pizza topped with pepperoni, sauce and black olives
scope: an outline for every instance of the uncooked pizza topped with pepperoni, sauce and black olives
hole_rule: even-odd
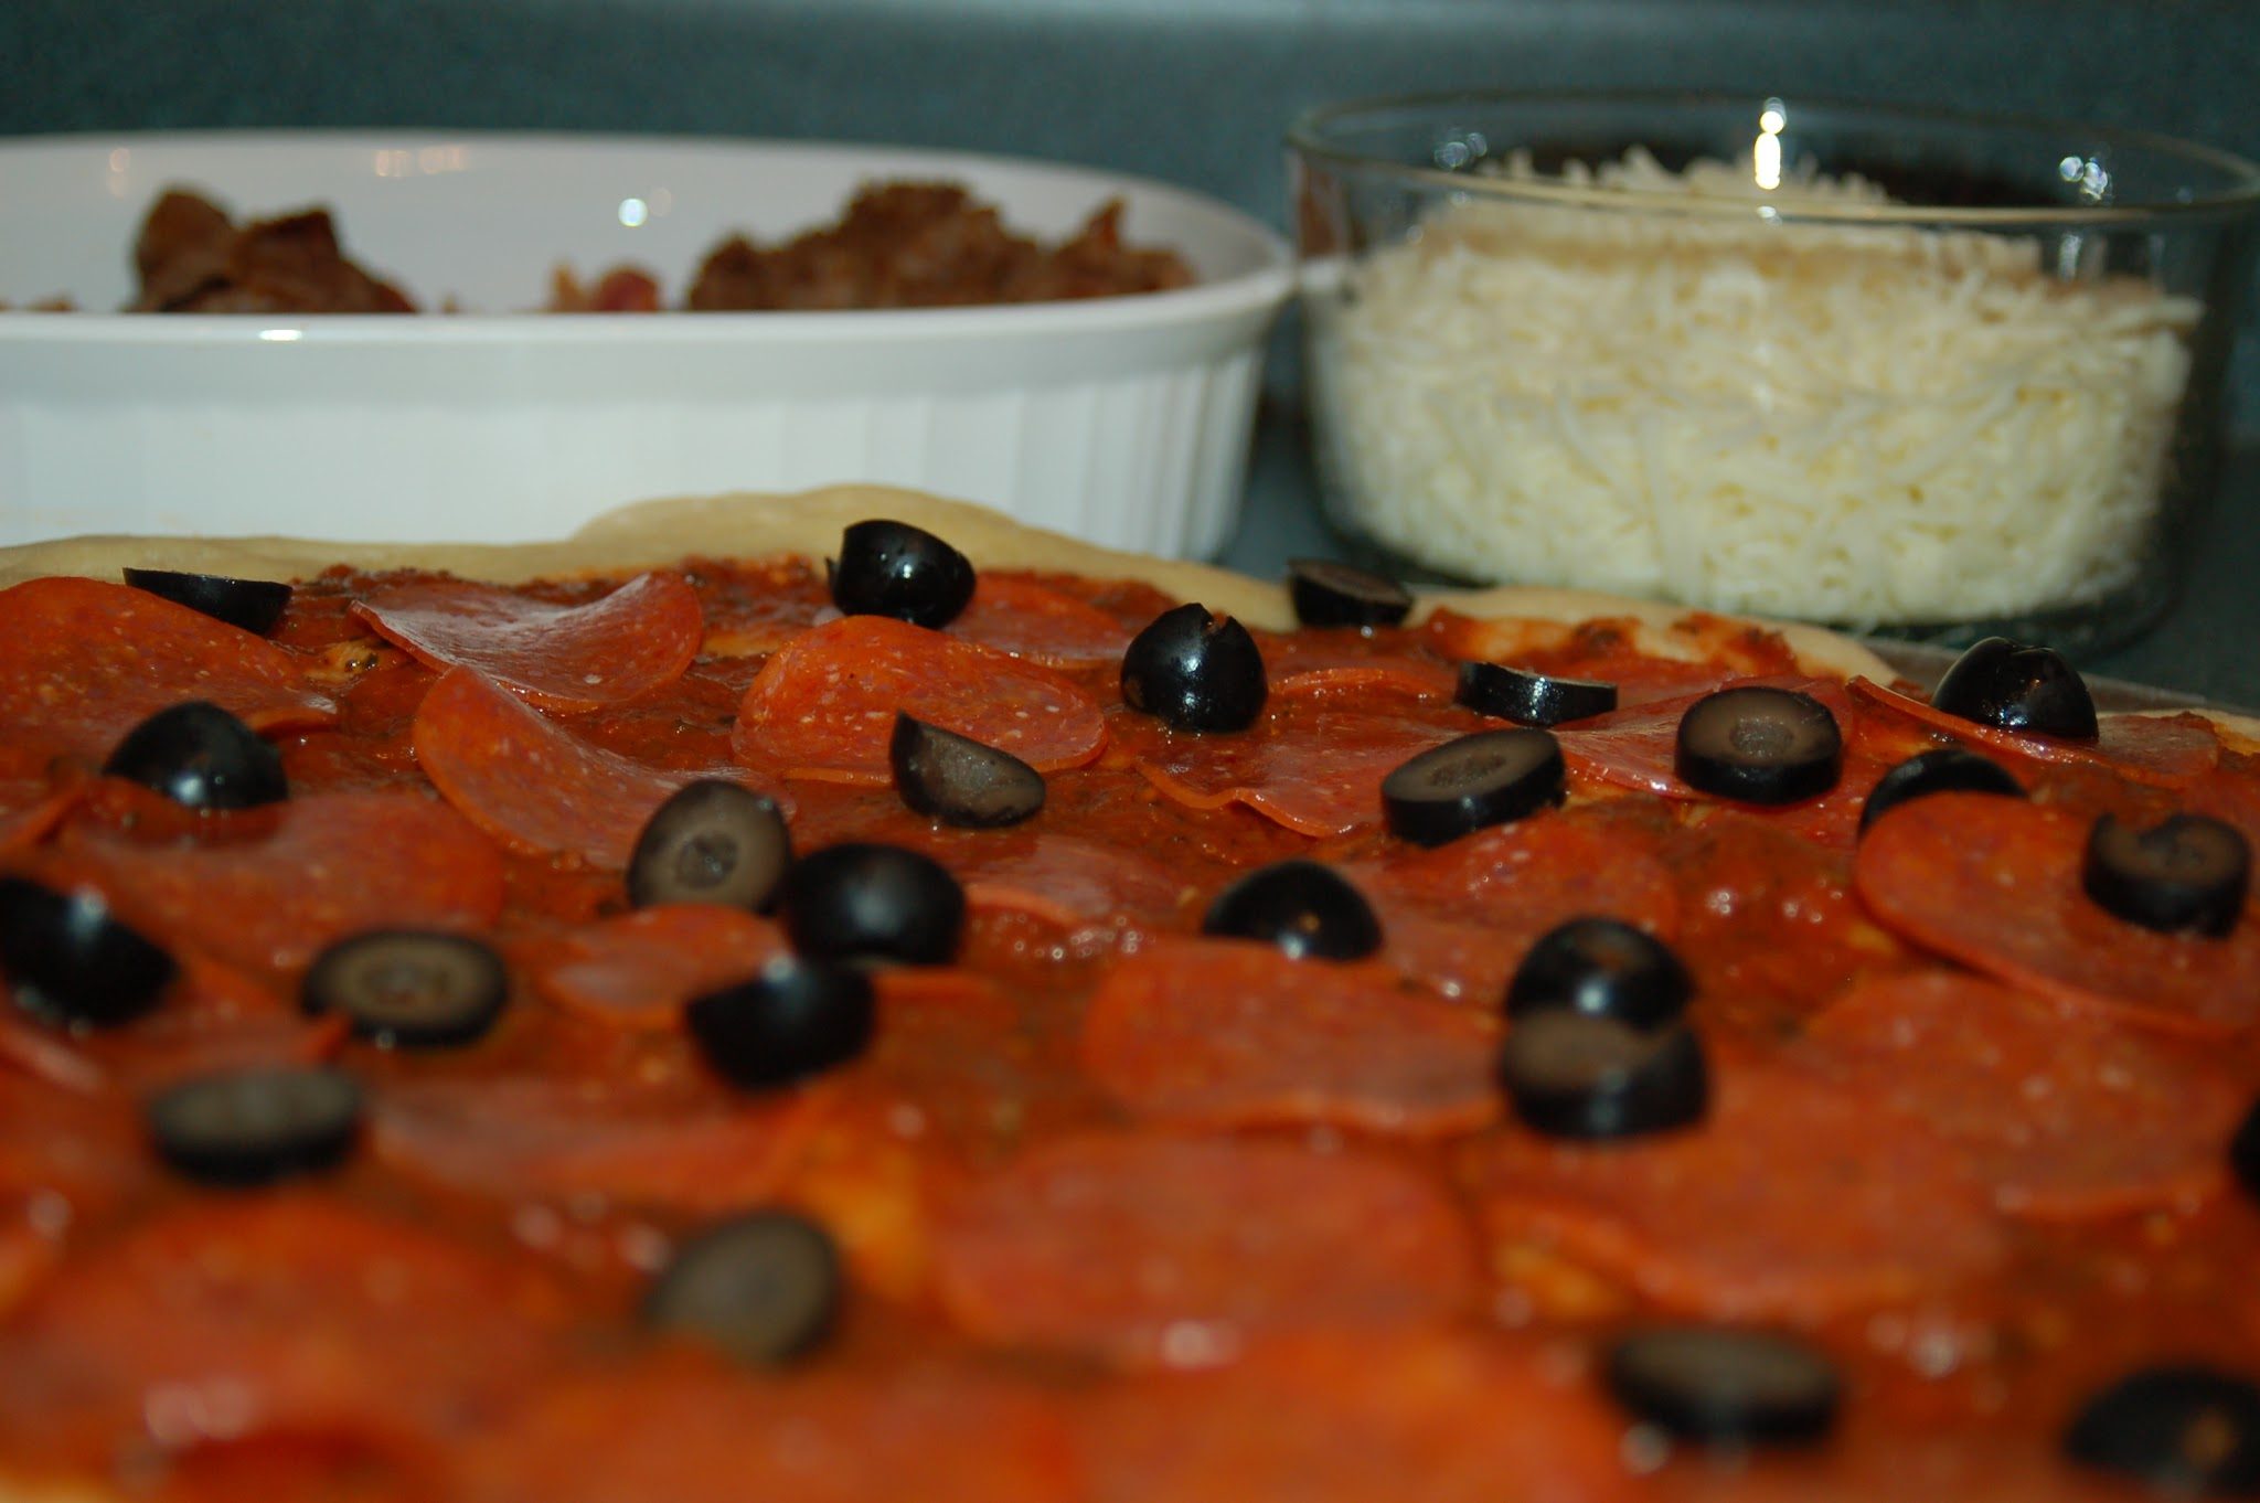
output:
[[[0,585],[0,1498],[2260,1489],[2249,723],[868,488]]]

